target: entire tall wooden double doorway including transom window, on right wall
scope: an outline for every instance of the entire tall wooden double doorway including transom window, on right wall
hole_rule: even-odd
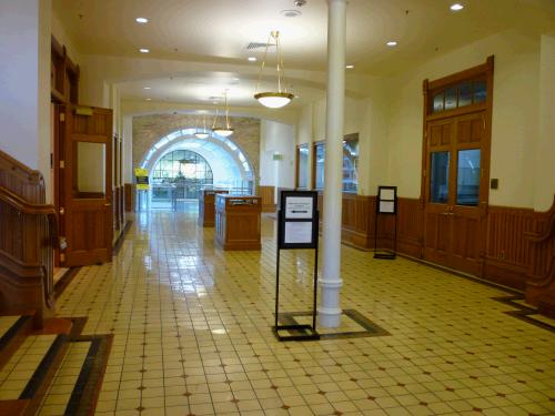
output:
[[[424,82],[424,250],[431,262],[482,274],[488,202],[493,58]]]

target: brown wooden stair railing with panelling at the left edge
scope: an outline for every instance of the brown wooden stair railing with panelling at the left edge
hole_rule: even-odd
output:
[[[53,315],[53,250],[58,217],[44,204],[44,182],[0,151],[0,312],[34,311],[36,326]]]

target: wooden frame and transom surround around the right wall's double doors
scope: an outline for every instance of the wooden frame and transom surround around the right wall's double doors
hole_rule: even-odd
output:
[[[451,119],[455,116],[472,114],[476,112],[484,112],[485,118],[485,129],[484,129],[484,140],[481,142],[481,181],[480,181],[480,201],[478,215],[481,217],[480,222],[480,242],[478,247],[480,257],[482,260],[485,257],[485,246],[486,246],[486,217],[487,217],[487,206],[490,201],[490,166],[491,166],[491,143],[492,143],[492,111],[493,111],[493,72],[494,72],[494,57],[487,57],[485,63],[470,68],[467,70],[456,72],[454,74],[428,81],[427,79],[423,81],[423,140],[422,140],[422,173],[421,173],[421,206],[425,211],[426,204],[430,200],[430,175],[427,172],[428,164],[428,125],[431,122],[443,119]],[[453,110],[444,110],[436,113],[432,112],[432,100],[435,92],[441,91],[447,87],[455,85],[464,81],[471,81],[475,79],[485,79],[486,81],[486,100],[483,103],[470,104],[466,106],[456,108]],[[450,168],[450,181],[451,181],[451,169]],[[450,184],[451,187],[451,184]],[[454,189],[456,192],[456,189]],[[456,201],[453,204],[456,206]],[[424,234],[425,230],[425,215],[424,215]],[[421,256],[424,257],[424,241],[422,245]],[[482,270],[484,262],[482,261]],[[480,273],[482,274],[482,273]]]

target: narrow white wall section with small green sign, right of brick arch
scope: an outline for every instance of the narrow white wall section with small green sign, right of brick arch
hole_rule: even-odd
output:
[[[281,159],[273,160],[273,155]],[[295,126],[261,120],[260,184],[278,187],[295,186]]]

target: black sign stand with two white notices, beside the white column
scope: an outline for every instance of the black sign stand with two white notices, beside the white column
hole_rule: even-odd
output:
[[[275,263],[275,323],[273,332],[278,341],[320,339],[316,332],[317,294],[317,241],[319,212],[317,192],[281,191],[278,214],[278,250]],[[295,234],[295,232],[301,231]],[[306,232],[309,231],[309,232]],[[312,303],[312,325],[280,325],[280,253],[282,250],[314,248],[314,297]],[[280,331],[294,332],[282,335]]]

